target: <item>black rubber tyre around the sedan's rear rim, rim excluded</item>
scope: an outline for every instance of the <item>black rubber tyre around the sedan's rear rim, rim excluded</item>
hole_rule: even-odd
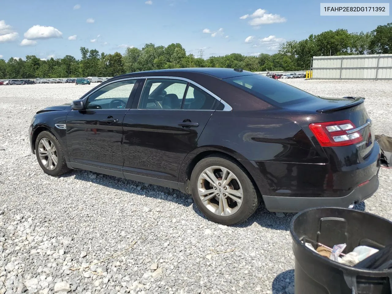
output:
[[[201,201],[200,196],[198,194],[198,179],[200,174],[212,166],[221,166],[226,169],[229,169],[241,183],[242,191],[243,191],[243,200],[242,204],[239,207],[238,211],[229,215],[229,216],[220,216],[210,211]],[[194,203],[196,203],[197,207],[201,212],[211,221],[216,223],[221,223],[223,225],[234,225],[236,223],[241,223],[246,221],[257,209],[259,205],[259,197],[256,192],[256,189],[250,180],[249,176],[245,169],[236,163],[232,162],[232,159],[227,156],[222,156],[220,154],[212,154],[211,156],[207,156],[203,158],[196,164],[192,171],[191,175],[191,191]]]

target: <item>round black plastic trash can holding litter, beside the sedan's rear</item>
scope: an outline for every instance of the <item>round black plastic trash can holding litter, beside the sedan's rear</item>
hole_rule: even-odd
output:
[[[380,250],[392,244],[392,222],[352,209],[312,208],[294,216],[290,232],[296,294],[392,294],[392,269],[357,269],[305,247],[313,240],[331,248],[346,243],[343,253],[360,245]]]

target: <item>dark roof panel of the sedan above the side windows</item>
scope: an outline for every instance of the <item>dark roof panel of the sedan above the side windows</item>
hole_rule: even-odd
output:
[[[123,74],[122,76],[142,76],[144,74],[146,75],[152,75],[152,74],[157,74],[157,75],[163,75],[164,73],[167,73],[168,75],[173,75],[174,73],[176,74],[181,74],[181,73],[201,73],[201,74],[208,74],[210,76],[214,76],[219,79],[225,79],[225,78],[232,78],[234,76],[247,76],[249,74],[256,74],[251,71],[238,71],[234,69],[229,69],[229,68],[220,68],[220,67],[191,67],[191,68],[178,68],[178,69],[157,69],[154,71],[139,71],[136,73],[129,73],[129,74]]]

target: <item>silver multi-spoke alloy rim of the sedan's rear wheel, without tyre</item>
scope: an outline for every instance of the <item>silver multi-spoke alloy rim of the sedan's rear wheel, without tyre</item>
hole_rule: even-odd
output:
[[[237,176],[221,166],[207,167],[198,178],[198,195],[207,209],[230,216],[240,209],[243,190]]]

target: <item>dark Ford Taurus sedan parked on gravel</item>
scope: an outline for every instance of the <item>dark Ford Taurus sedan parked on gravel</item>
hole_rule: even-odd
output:
[[[51,176],[79,169],[179,189],[229,225],[259,203],[296,212],[370,197],[380,148],[363,101],[241,69],[138,72],[38,111],[30,143]]]

